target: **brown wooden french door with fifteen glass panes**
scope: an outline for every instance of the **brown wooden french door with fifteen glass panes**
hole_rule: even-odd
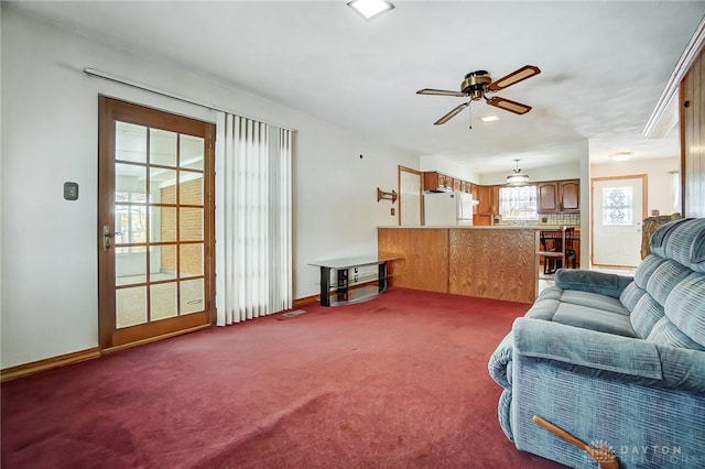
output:
[[[100,347],[213,323],[212,123],[99,97]]]

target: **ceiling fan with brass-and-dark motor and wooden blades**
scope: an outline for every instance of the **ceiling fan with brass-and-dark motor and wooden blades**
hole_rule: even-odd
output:
[[[448,113],[443,116],[441,119],[435,121],[434,126],[441,126],[442,123],[446,123],[449,121],[455,114],[460,112],[463,109],[470,106],[473,101],[479,101],[485,98],[488,105],[495,106],[496,108],[503,109],[509,112],[513,112],[517,114],[525,114],[531,110],[531,106],[522,105],[521,102],[512,101],[509,99],[500,98],[499,96],[494,96],[488,98],[485,96],[489,92],[495,92],[502,90],[507,87],[518,84],[519,81],[523,81],[527,78],[531,78],[534,75],[539,75],[541,69],[533,65],[524,65],[518,70],[512,72],[511,74],[501,77],[498,80],[492,81],[492,77],[489,76],[487,70],[477,70],[470,72],[465,75],[465,79],[460,85],[459,91],[451,91],[445,89],[433,89],[433,88],[424,88],[416,91],[416,95],[436,95],[436,96],[457,96],[458,98],[470,98],[469,101],[457,106],[452,109]]]

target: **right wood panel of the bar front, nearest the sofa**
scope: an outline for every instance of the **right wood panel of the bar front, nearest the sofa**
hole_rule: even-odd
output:
[[[452,229],[449,243],[448,293],[533,303],[533,229]]]

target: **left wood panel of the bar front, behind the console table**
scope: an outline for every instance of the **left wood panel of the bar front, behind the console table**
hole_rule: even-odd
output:
[[[379,228],[379,255],[403,258],[391,262],[392,286],[448,292],[448,230]]]

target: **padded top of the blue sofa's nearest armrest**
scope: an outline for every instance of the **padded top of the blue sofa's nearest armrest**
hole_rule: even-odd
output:
[[[527,357],[588,377],[705,393],[705,351],[527,317],[514,321],[512,337],[516,360]]]

